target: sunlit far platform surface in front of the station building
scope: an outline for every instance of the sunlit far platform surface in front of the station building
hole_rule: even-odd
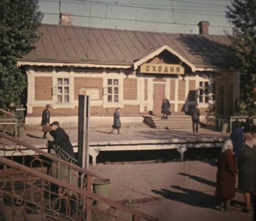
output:
[[[64,128],[70,137],[71,143],[77,143],[77,128]],[[138,124],[123,124],[121,134],[110,134],[110,127],[94,126],[90,129],[90,143],[94,142],[127,142],[127,141],[142,141],[142,140],[165,140],[170,138],[180,139],[197,139],[197,138],[225,138],[229,134],[222,134],[214,132],[209,129],[199,128],[199,133],[193,134],[192,129],[154,129],[150,128],[143,123]],[[47,137],[52,140],[52,137],[47,134]],[[19,137],[20,140],[28,142],[33,145],[45,145],[47,140],[43,139],[42,127],[40,126],[27,126],[23,136]]]

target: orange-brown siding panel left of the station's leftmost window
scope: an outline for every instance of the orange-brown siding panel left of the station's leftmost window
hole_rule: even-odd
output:
[[[52,77],[35,77],[35,100],[52,100]]]

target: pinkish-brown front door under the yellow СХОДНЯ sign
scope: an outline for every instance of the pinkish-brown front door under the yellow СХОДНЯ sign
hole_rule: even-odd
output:
[[[165,97],[165,85],[164,84],[154,84],[154,95],[153,95],[153,113],[161,113],[161,107],[163,99]]]

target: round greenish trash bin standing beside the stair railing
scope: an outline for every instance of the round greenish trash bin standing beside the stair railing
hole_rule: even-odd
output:
[[[110,184],[110,179],[93,179],[92,181],[92,189],[93,193],[100,195],[101,197],[108,198],[108,185]],[[105,203],[95,201],[95,207],[99,210],[108,209],[109,206]]]

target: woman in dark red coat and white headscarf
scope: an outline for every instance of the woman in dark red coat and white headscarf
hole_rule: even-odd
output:
[[[217,187],[215,195],[220,198],[221,211],[231,211],[230,200],[235,197],[236,165],[233,145],[230,140],[222,147],[218,159]]]

